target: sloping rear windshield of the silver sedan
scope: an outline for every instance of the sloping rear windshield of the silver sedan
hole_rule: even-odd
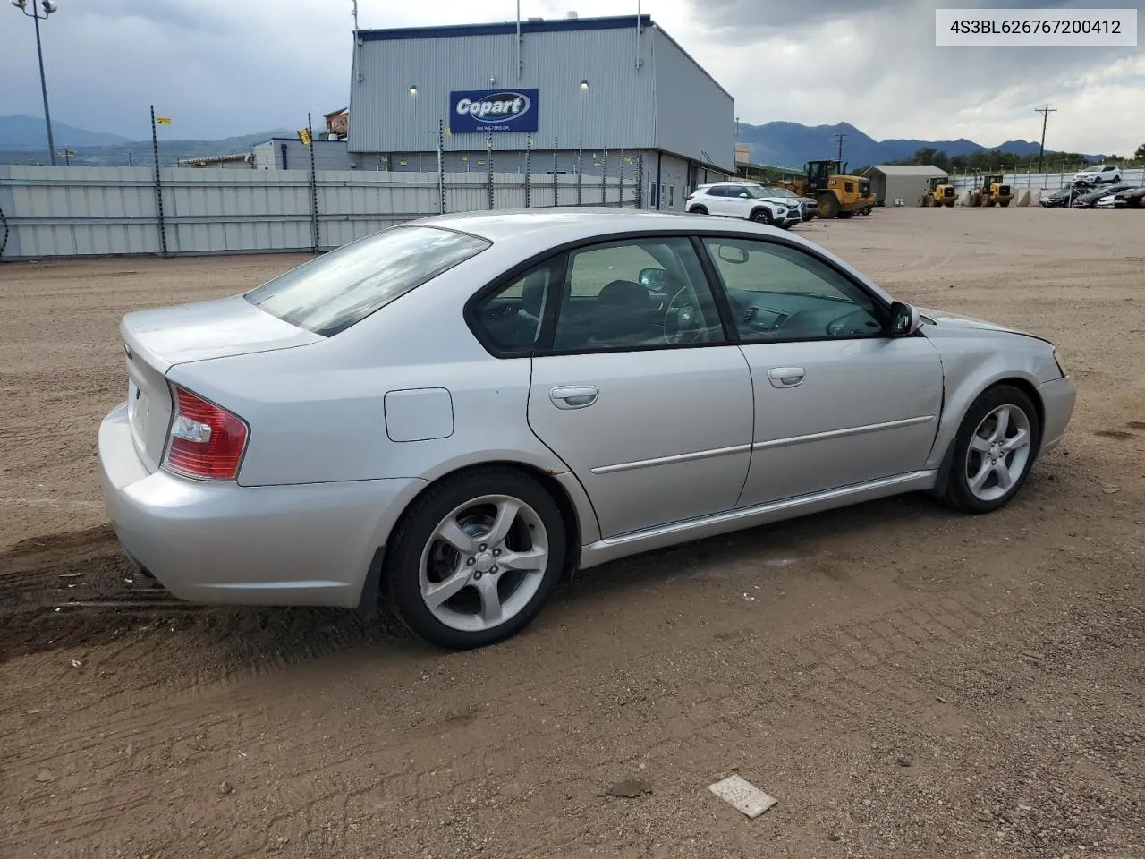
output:
[[[490,245],[434,227],[394,227],[360,238],[251,290],[279,320],[331,337]]]

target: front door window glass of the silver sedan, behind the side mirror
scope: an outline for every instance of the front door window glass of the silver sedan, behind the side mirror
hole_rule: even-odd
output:
[[[874,298],[818,258],[787,245],[705,238],[747,342],[878,337]]]

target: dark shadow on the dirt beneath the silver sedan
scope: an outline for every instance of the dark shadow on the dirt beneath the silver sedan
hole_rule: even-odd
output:
[[[1030,474],[1026,490],[1012,506],[1044,502],[1045,487],[1052,486],[1048,483],[1052,479],[1044,473]],[[582,570],[558,590],[553,604],[566,612],[579,612],[584,605],[623,599],[625,591],[645,588],[652,582],[682,581],[695,575],[697,568],[711,570],[721,566],[766,562],[768,558],[804,557],[816,551],[827,539],[845,541],[848,535],[870,535],[872,529],[883,528],[889,522],[897,528],[906,523],[911,531],[926,531],[966,519],[922,494],[867,502]],[[25,581],[22,598],[13,600],[11,582],[7,582],[7,593],[0,588],[0,597],[7,599],[7,605],[0,602],[0,662],[46,651],[123,644],[127,638],[145,639],[160,631],[165,640],[176,641],[181,651],[197,651],[200,660],[254,670],[285,668],[354,652],[386,652],[398,659],[444,653],[413,637],[384,608],[373,617],[333,608],[194,604],[180,604],[163,610],[148,606],[61,608],[62,601],[76,596],[62,590],[60,582],[66,581],[64,576],[81,573],[86,578],[86,590],[80,596],[95,594],[109,600],[136,585],[110,529],[95,529],[94,536],[85,534],[87,538],[78,541],[80,557],[68,554],[69,545],[77,543],[72,538],[74,535],[61,535],[57,542],[63,546],[62,554],[49,554],[39,567],[32,565],[34,570],[31,576],[45,580],[41,591],[35,591],[34,582],[29,584]],[[0,559],[10,557],[9,553],[0,555]],[[0,576],[0,585],[10,578]],[[532,628],[534,632],[543,628],[547,614],[542,613]],[[177,659],[179,654],[174,655]]]

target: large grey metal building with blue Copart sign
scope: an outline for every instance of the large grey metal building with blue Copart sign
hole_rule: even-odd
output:
[[[731,94],[650,16],[358,30],[348,152],[360,170],[642,173],[681,210],[735,175]],[[623,172],[623,173],[622,173]]]

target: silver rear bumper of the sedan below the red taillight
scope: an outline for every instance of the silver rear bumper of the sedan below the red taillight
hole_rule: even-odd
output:
[[[240,487],[149,472],[127,404],[100,425],[100,482],[131,558],[180,599],[355,607],[414,479]]]

